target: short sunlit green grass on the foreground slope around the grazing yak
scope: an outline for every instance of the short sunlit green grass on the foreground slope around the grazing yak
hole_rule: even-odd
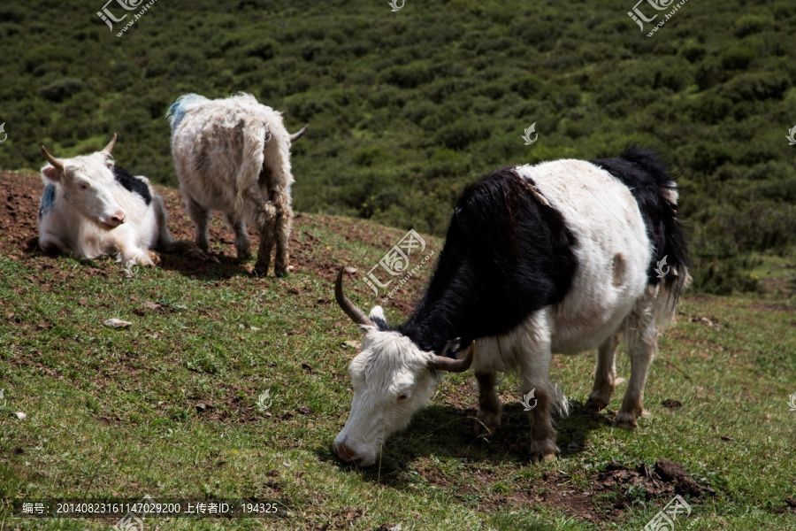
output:
[[[298,221],[301,241],[323,242],[307,251],[315,264],[334,267],[351,257],[367,271],[387,250],[330,218],[305,214]],[[361,223],[344,222],[385,242],[401,236]],[[692,529],[796,529],[793,515],[781,513],[796,488],[796,412],[786,404],[796,391],[792,300],[686,299],[660,340],[645,396],[649,414],[635,431],[612,427],[610,413],[583,411],[593,353],[555,358],[553,377],[575,404],[557,424],[558,444],[576,442],[582,450],[564,451],[550,464],[527,458],[528,420],[513,377],[500,388],[508,426],[491,443],[475,440],[465,411],[475,405],[473,378],[451,375],[430,407],[387,441],[379,466],[359,471],[331,451],[351,399],[347,365],[355,351],[344,342],[359,333],[333,303],[328,275],[299,268],[283,280],[253,278],[215,265],[187,274],[166,259],[128,279],[110,262],[0,257],[0,387],[7,401],[0,528],[115,523],[12,519],[7,504],[15,497],[149,494],[273,498],[285,513],[265,521],[177,520],[167,529],[376,529],[399,522],[417,530],[641,529],[668,500],[617,488],[593,503],[598,512],[619,504],[621,516],[592,523],[517,496],[540,489],[545,473],[565,473],[567,487],[588,490],[610,461],[632,467],[670,458],[716,489],[693,504]],[[430,268],[421,273],[401,304],[418,295]],[[348,286],[357,304],[373,304],[363,282],[350,278]],[[145,302],[164,309],[146,310]],[[396,304],[387,304],[387,315],[400,320],[396,308],[403,306]],[[111,317],[134,324],[104,327]],[[700,317],[719,328],[691,320]],[[617,368],[628,375],[626,358]],[[266,389],[272,404],[261,412],[257,396]],[[610,410],[623,394],[621,386]],[[683,407],[664,408],[668,398]],[[509,501],[496,503],[500,496]]]

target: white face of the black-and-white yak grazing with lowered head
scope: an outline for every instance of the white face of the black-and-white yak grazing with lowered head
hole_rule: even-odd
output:
[[[371,319],[384,319],[381,308]],[[405,335],[367,327],[362,351],[349,366],[354,400],[346,426],[334,439],[334,451],[346,462],[371,466],[384,441],[409,424],[436,385],[428,368],[433,353],[417,348]]]

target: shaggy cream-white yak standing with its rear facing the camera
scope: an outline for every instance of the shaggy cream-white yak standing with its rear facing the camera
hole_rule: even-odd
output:
[[[267,274],[276,240],[274,273],[287,274],[287,241],[293,224],[290,206],[290,135],[280,112],[239,93],[210,100],[180,96],[166,117],[172,124],[172,156],[180,194],[205,252],[210,211],[223,212],[235,233],[238,258],[251,256],[246,220],[260,235],[255,271]]]

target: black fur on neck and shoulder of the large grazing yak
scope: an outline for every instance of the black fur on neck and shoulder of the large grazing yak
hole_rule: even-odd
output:
[[[425,296],[398,328],[418,347],[440,353],[454,337],[506,334],[567,294],[575,235],[532,184],[507,167],[464,190]]]

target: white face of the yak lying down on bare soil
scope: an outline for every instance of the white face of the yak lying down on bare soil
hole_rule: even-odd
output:
[[[42,168],[42,174],[57,183],[63,198],[78,212],[104,229],[119,227],[125,212],[113,196],[119,186],[113,176],[111,155],[98,151],[92,155],[65,158],[63,172],[52,165]]]

